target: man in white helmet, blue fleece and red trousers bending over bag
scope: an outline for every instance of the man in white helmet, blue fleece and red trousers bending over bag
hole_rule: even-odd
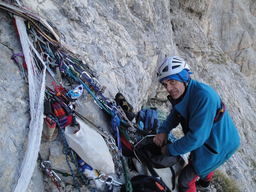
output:
[[[178,177],[179,191],[205,192],[210,191],[213,171],[235,153],[240,138],[220,96],[190,74],[188,64],[179,57],[165,58],[158,65],[157,79],[170,94],[172,108],[153,141],[167,156],[190,152]],[[166,145],[167,135],[179,123],[184,136]]]

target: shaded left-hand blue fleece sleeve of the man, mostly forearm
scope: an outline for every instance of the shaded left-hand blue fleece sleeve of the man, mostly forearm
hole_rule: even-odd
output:
[[[169,115],[159,126],[157,133],[165,133],[168,135],[172,129],[179,125],[179,123],[178,112],[174,108],[171,108]]]

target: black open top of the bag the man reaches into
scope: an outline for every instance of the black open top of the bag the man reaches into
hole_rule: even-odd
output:
[[[149,164],[156,169],[172,167],[180,160],[181,156],[161,155],[161,148],[153,142],[154,137],[155,135],[147,135],[134,146],[136,158],[140,163]]]

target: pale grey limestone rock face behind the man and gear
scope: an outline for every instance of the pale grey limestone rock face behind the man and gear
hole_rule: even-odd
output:
[[[239,149],[219,169],[235,180],[242,192],[256,190],[254,1],[23,2],[32,12],[54,23],[74,50],[86,52],[86,59],[98,71],[100,84],[107,86],[105,97],[114,99],[121,92],[135,112],[147,101],[166,115],[169,113],[171,105],[156,80],[156,67],[166,56],[186,60],[193,72],[191,77],[219,93],[240,135]],[[13,54],[22,53],[20,40],[10,14],[4,9],[0,11],[0,29],[0,191],[8,192],[12,191],[27,148],[30,108],[28,81],[11,59]],[[46,82],[51,84],[49,74]],[[79,101],[81,106],[76,111],[111,134],[109,117],[89,93],[84,92]],[[180,127],[175,132],[180,132]],[[54,141],[41,141],[39,155],[51,161],[54,169],[70,173],[63,147],[59,133]],[[184,158],[186,161],[187,156]],[[58,191],[39,164],[32,168],[34,173],[26,191]],[[123,177],[113,176],[124,182]],[[60,178],[65,191],[77,191],[72,176]],[[82,191],[89,191],[79,184]]]

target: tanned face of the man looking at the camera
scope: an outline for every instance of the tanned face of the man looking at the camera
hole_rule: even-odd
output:
[[[178,99],[185,91],[185,85],[174,79],[165,79],[162,85],[173,99]]]

